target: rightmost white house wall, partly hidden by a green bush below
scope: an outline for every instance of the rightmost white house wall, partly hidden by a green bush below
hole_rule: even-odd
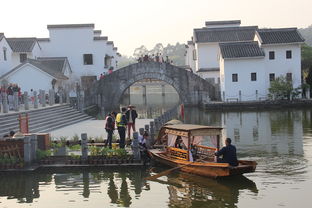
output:
[[[266,85],[269,86],[269,74],[275,73],[275,78],[292,73],[293,87],[301,86],[301,49],[299,44],[262,45],[265,52],[264,68],[266,71]],[[286,51],[292,51],[292,58],[286,59]],[[275,52],[275,59],[269,60],[269,51]]]

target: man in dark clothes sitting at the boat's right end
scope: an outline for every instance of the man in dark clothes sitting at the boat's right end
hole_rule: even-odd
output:
[[[222,159],[218,159],[218,162],[229,163],[231,166],[238,166],[236,147],[231,144],[232,140],[226,138],[225,147],[215,153],[216,156],[221,156]]]

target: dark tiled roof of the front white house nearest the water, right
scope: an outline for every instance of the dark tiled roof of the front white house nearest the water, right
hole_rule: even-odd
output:
[[[220,43],[219,46],[224,59],[264,57],[264,52],[256,41]]]

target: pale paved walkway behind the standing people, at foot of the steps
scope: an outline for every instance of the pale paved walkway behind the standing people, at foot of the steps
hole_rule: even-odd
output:
[[[137,119],[136,130],[144,128],[144,125],[149,124],[151,121],[152,119]],[[71,139],[75,135],[80,137],[82,133],[87,133],[88,137],[102,137],[103,139],[106,139],[107,134],[104,126],[104,120],[89,120],[51,131],[50,135],[52,138],[67,137],[68,139]],[[118,134],[117,131],[115,131],[115,134]]]

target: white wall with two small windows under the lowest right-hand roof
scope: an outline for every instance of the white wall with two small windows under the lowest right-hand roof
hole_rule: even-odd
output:
[[[226,59],[221,64],[221,98],[223,101],[238,99],[257,100],[267,96],[264,59]],[[251,73],[256,72],[257,80],[251,81]],[[238,81],[232,81],[232,74],[238,75]],[[256,94],[258,91],[258,95]],[[241,92],[241,97],[239,96]]]

